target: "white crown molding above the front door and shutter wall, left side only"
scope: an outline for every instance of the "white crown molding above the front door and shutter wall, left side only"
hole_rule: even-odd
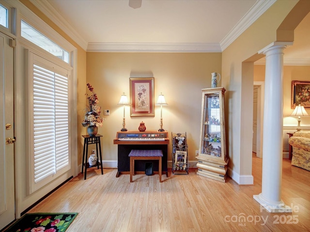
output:
[[[78,32],[71,27],[71,25],[59,14],[48,2],[48,0],[30,0],[31,3],[37,7],[43,14],[52,20],[60,29],[62,29],[70,38],[83,48],[87,49],[87,42],[78,34]]]

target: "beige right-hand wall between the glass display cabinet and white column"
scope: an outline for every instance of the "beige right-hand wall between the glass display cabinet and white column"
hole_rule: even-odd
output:
[[[222,53],[222,85],[228,89],[226,114],[230,170],[240,176],[251,175],[252,107],[247,107],[248,83],[253,83],[253,74],[245,70],[251,66],[243,62],[253,57],[268,44],[277,41],[276,31],[297,1],[277,1],[242,35]],[[253,60],[254,61],[254,60]],[[249,80],[247,80],[249,79]],[[252,87],[251,87],[252,88]],[[248,94],[245,94],[248,93]],[[242,135],[242,136],[241,136]],[[248,148],[244,148],[244,147]]]

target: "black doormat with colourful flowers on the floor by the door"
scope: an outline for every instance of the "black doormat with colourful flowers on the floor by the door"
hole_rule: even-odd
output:
[[[25,214],[4,232],[64,232],[78,213]]]

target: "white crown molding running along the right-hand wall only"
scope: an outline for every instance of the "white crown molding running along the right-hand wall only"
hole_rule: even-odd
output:
[[[235,41],[252,23],[254,23],[270,6],[277,0],[258,0],[249,9],[240,21],[231,29],[230,32],[222,39],[220,46],[224,51],[233,41]]]

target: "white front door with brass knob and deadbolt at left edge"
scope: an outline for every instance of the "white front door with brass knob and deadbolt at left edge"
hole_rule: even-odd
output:
[[[13,48],[0,32],[0,230],[15,220]]]

